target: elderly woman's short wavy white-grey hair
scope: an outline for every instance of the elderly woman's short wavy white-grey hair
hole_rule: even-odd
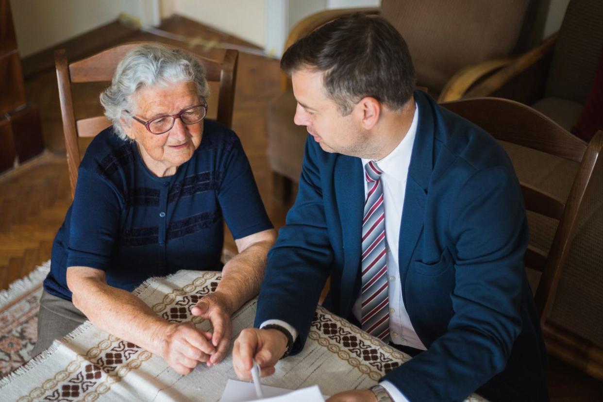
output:
[[[101,93],[105,116],[113,123],[115,133],[121,139],[127,140],[121,118],[125,117],[126,121],[131,123],[131,116],[123,112],[128,110],[136,113],[133,95],[137,90],[183,82],[195,83],[200,98],[209,97],[205,69],[195,55],[159,43],[140,45],[128,52],[119,62],[111,85]]]

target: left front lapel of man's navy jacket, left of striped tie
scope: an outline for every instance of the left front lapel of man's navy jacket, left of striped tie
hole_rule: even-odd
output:
[[[335,195],[341,219],[344,267],[341,277],[339,306],[349,314],[356,295],[353,289],[359,275],[364,213],[364,175],[359,158],[339,155],[335,165]]]

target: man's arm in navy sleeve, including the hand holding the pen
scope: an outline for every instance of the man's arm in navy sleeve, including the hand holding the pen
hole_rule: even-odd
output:
[[[313,141],[311,137],[306,139],[297,199],[276,245],[268,253],[254,324],[259,327],[281,321],[291,325],[291,332],[298,332],[293,353],[303,348],[333,259],[317,163],[320,151]],[[292,335],[295,338],[296,334]],[[233,367],[238,377],[250,378],[252,359],[258,360],[262,375],[273,374],[287,341],[287,336],[277,329],[242,330],[233,348]]]

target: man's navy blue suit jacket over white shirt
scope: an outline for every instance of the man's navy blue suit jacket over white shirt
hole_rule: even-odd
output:
[[[428,348],[389,372],[411,401],[546,400],[546,350],[526,281],[528,227],[513,166],[484,130],[415,92],[419,121],[399,237],[403,299]],[[326,305],[349,318],[359,295],[364,203],[359,158],[309,137],[297,199],[268,255],[256,325],[282,319],[303,348]]]

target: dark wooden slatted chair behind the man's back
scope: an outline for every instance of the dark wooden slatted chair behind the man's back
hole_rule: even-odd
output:
[[[528,246],[524,262],[526,266],[542,272],[535,301],[549,353],[595,377],[603,378],[601,345],[585,339],[576,328],[563,327],[555,322],[558,320],[551,315],[553,304],[559,303],[555,300],[555,295],[566,268],[572,242],[579,229],[578,222],[584,221],[581,213],[587,204],[586,195],[589,196],[589,203],[593,197],[601,196],[603,131],[598,131],[587,144],[540,112],[508,99],[473,98],[444,102],[442,105],[484,128],[498,140],[546,152],[579,164],[567,199],[560,199],[534,186],[520,183],[526,210],[559,221],[548,253]],[[603,243],[599,243],[599,246],[603,246]],[[599,268],[593,268],[603,270],[603,262],[599,262]],[[579,293],[580,289],[576,289],[576,292]],[[598,283],[598,292],[601,297],[603,280]]]

